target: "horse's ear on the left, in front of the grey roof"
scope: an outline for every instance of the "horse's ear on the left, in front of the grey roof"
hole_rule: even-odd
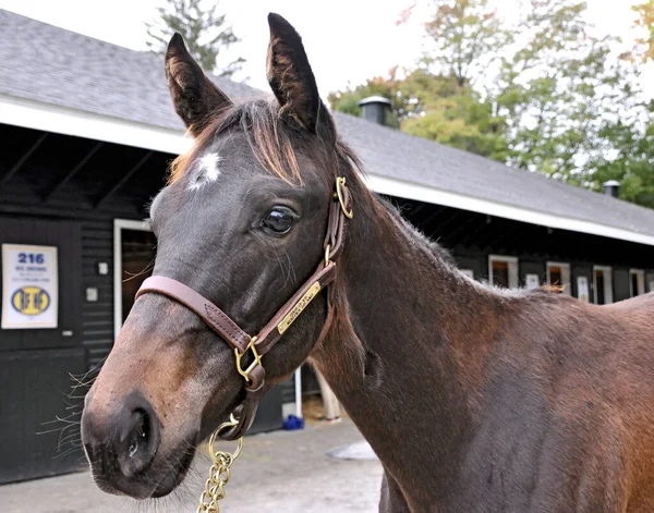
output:
[[[213,114],[232,105],[204,74],[178,33],[166,50],[166,80],[174,110],[194,136],[204,130]]]

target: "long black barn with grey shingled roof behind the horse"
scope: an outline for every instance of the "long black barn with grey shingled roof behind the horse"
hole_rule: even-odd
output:
[[[0,483],[9,483],[80,467],[69,448],[84,387],[71,389],[70,375],[83,384],[111,350],[154,257],[145,206],[190,142],[160,57],[2,10],[0,32]],[[216,82],[234,98],[262,95]],[[384,126],[384,108],[372,98],[364,118],[335,115],[371,187],[452,251],[463,272],[505,286],[558,283],[598,304],[654,291],[654,211],[617,199],[616,184],[592,193],[420,139]],[[274,390],[255,428],[279,428],[300,406],[296,391],[311,391],[303,381]]]

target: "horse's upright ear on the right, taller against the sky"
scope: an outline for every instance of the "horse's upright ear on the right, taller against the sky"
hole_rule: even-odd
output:
[[[279,14],[268,14],[268,25],[270,45],[267,75],[281,106],[280,113],[295,120],[310,132],[334,137],[334,122],[318,95],[302,38]]]

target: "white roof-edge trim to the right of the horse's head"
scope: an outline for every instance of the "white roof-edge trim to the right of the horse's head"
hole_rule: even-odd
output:
[[[610,239],[618,239],[620,241],[630,241],[654,246],[654,236],[643,235],[642,233],[631,232],[620,228],[607,227],[605,224],[582,221],[580,219],[570,219],[554,213],[529,210],[526,208],[499,204],[487,199],[473,198],[462,194],[441,191],[429,185],[419,185],[371,173],[367,173],[367,176],[365,176],[364,180],[373,191],[379,194],[426,201],[435,205],[486,213],[488,216],[556,228],[559,230],[590,233],[592,235],[602,235]]]

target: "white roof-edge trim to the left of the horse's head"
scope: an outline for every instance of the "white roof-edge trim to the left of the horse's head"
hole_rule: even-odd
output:
[[[0,123],[168,154],[183,154],[192,143],[180,131],[7,95],[0,95]]]

